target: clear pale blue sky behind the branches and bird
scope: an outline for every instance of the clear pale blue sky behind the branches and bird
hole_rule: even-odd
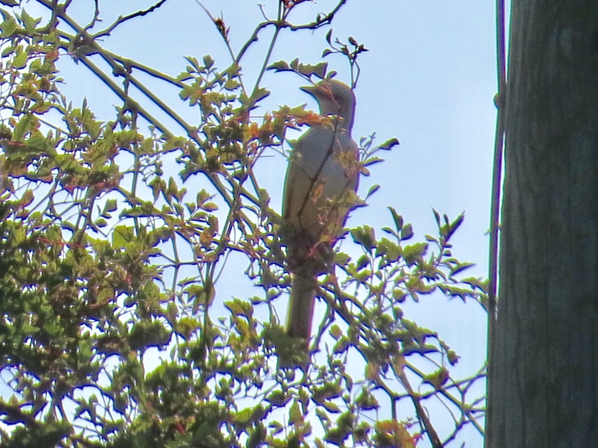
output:
[[[260,2],[269,18],[274,18],[277,1]],[[336,3],[304,2],[297,5],[291,20],[310,22]],[[104,22],[99,28],[108,26],[111,18],[149,5],[147,0],[100,2]],[[231,27],[234,50],[239,50],[255,24],[263,20],[257,1],[205,0],[203,5],[214,16],[222,13]],[[81,7],[75,14],[80,23],[89,22],[93,2],[75,0],[74,6]],[[47,16],[35,2],[25,7],[32,16]],[[377,229],[388,226],[391,220],[386,207],[392,205],[406,222],[413,223],[414,241],[422,241],[423,235],[435,232],[432,207],[451,218],[465,210],[465,222],[453,239],[453,253],[460,260],[476,263],[467,274],[476,277],[487,276],[486,231],[496,118],[494,20],[493,2],[479,0],[347,0],[332,22],[333,37],[346,41],[353,36],[370,50],[359,57],[362,71],[356,89],[353,137],[357,140],[376,132],[378,143],[392,137],[401,141],[391,153],[383,154],[387,159],[384,164],[372,167],[369,179],[361,180],[362,194],[373,184],[381,188],[368,201],[369,207],[352,214],[348,225],[365,223]],[[299,57],[305,63],[320,62],[328,29],[283,31],[271,61]],[[263,63],[270,35],[271,30],[264,30],[242,61],[250,85]],[[183,56],[200,58],[210,54],[216,66],[230,65],[230,56],[215,27],[194,0],[169,0],[154,13],[124,24],[105,38],[103,45],[170,75],[185,69]],[[346,60],[340,56],[325,60],[329,69],[337,70],[337,79],[349,81]],[[105,88],[87,76],[86,67],[63,57],[60,68],[67,81],[63,91],[75,105],[85,96],[100,119],[114,118],[111,105],[120,102],[115,97],[107,102]],[[313,100],[298,89],[304,81],[292,73],[268,72],[262,84],[271,95],[261,111],[283,104],[307,103],[310,109],[316,108]],[[155,89],[167,103],[177,104],[176,89],[158,84]],[[196,109],[180,102],[177,111],[191,122],[197,117]],[[255,113],[262,112],[258,109]],[[273,152],[258,168],[262,186],[269,189],[276,210],[280,210],[285,163]],[[222,300],[259,293],[255,290],[248,294],[246,285],[227,285],[217,290]],[[441,339],[457,351],[462,357],[458,372],[463,376],[483,364],[486,316],[480,306],[435,296],[424,297],[417,305],[405,304],[404,309],[408,318],[437,330]],[[467,441],[466,446],[481,446],[474,432],[464,434],[460,440]]]

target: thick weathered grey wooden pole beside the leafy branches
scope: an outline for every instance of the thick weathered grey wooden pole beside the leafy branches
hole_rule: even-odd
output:
[[[512,3],[486,447],[597,447],[598,2]]]

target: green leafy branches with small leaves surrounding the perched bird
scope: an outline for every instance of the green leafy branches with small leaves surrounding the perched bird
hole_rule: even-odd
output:
[[[451,221],[435,211],[438,235],[419,243],[409,243],[413,229],[393,208],[385,237],[352,229],[362,255],[337,251],[335,270],[321,278],[329,312],[309,357],[280,325],[289,275],[279,216],[255,168],[284,151],[288,128],[326,118],[303,107],[261,119],[251,111],[269,94],[260,85],[266,67],[306,79],[331,73],[324,63],[271,65],[270,51],[248,90],[241,62],[261,30],[274,28],[272,48],[281,31],[327,26],[344,2],[295,25],[288,14],[301,1],[281,0],[278,17],[236,54],[224,21],[210,16],[230,65],[187,57],[175,77],[98,41],[163,1],[94,33],[99,10],[81,26],[48,0],[38,0],[51,11],[46,22],[2,3],[14,6],[2,10],[0,35],[0,357],[11,389],[0,398],[3,446],[440,446],[465,424],[480,428],[483,401],[467,392],[483,371],[454,379],[457,354],[401,309],[434,291],[483,302],[480,280],[455,277],[469,266],[451,254],[463,215]],[[331,32],[327,40],[325,56],[346,57],[355,84],[364,46],[333,44]],[[56,62],[65,57],[121,98],[113,121],[60,93]],[[178,86],[201,121],[185,122],[137,72]],[[132,86],[150,106],[130,96]],[[178,127],[155,118],[155,106]],[[362,139],[363,174],[395,143]],[[233,254],[261,295],[219,296]],[[223,301],[227,314],[214,320]],[[160,363],[148,367],[157,353]],[[431,398],[457,414],[442,440],[424,408]],[[405,400],[412,418],[399,416]]]

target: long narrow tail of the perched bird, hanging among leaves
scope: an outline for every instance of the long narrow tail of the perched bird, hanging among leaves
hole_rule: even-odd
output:
[[[316,277],[304,272],[295,272],[286,320],[286,332],[289,336],[303,337],[309,341],[312,333],[315,297]]]

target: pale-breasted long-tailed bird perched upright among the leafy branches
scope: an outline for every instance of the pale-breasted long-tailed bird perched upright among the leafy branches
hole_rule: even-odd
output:
[[[351,137],[352,88],[324,79],[301,90],[316,99],[321,119],[291,144],[281,234],[292,274],[286,333],[309,345],[317,278],[329,271],[332,247],[355,204],[360,167],[358,145]]]

